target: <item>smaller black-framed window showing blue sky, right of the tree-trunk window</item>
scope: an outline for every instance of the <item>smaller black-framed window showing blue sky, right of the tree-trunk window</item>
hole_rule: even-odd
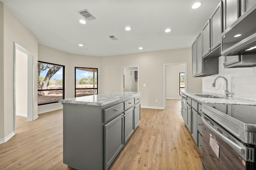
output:
[[[75,67],[75,97],[98,94],[98,69]]]

